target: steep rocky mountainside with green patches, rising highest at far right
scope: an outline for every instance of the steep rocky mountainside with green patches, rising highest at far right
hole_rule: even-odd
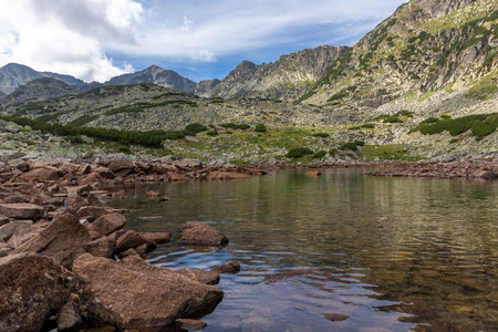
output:
[[[497,0],[412,0],[344,52],[299,101],[376,108],[471,86],[492,95],[497,21]]]

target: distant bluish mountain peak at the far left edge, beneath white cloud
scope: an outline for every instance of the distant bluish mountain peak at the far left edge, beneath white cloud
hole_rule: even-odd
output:
[[[19,86],[7,95],[2,103],[17,104],[25,101],[42,101],[68,94],[76,94],[77,90],[55,79],[42,77]]]

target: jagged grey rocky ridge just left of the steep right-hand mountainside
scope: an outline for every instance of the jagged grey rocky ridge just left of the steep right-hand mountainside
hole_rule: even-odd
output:
[[[345,51],[345,46],[319,46],[282,55],[274,63],[243,61],[221,82],[197,90],[207,97],[262,97],[294,100],[311,87]],[[206,83],[205,83],[206,84]]]

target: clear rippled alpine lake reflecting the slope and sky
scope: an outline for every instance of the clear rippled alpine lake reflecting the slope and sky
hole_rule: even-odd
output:
[[[203,331],[497,331],[498,181],[278,170],[168,183],[107,198],[127,228],[169,231],[146,260],[170,269],[238,261]],[[147,198],[158,190],[170,201]],[[178,243],[207,222],[225,248]],[[349,315],[330,321],[325,314]]]

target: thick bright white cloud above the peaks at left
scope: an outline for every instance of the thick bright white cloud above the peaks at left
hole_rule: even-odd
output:
[[[142,7],[131,0],[0,2],[0,65],[106,81],[129,72],[105,54],[106,44],[133,44]]]

